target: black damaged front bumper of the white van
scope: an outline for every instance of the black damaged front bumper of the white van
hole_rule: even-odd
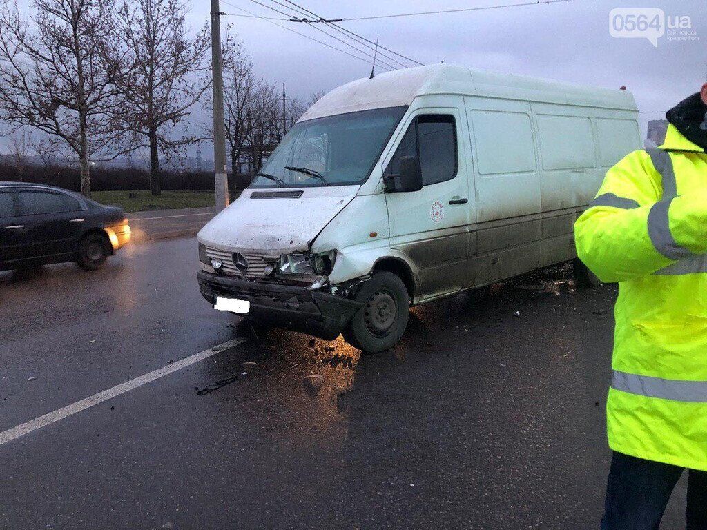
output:
[[[247,317],[255,322],[300,331],[332,340],[337,338],[361,302],[312,290],[311,285],[249,281],[199,271],[199,290],[211,305],[216,297],[250,302]]]

